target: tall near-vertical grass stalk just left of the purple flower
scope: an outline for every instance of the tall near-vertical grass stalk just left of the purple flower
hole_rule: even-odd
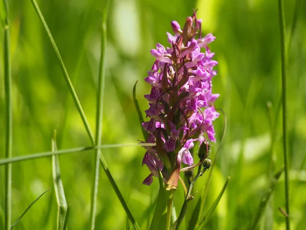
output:
[[[96,110],[96,145],[101,145],[102,141],[102,121],[103,121],[103,99],[105,89],[105,68],[106,68],[106,43],[107,43],[107,14],[110,0],[106,1],[103,11],[102,25],[101,25],[101,55],[99,65],[99,76],[98,76],[98,92],[97,92],[97,110]],[[94,180],[93,189],[91,196],[91,209],[90,209],[90,228],[93,230],[95,226],[96,206],[97,206],[97,194],[99,185],[99,166],[100,157],[99,149],[96,150],[95,155],[95,169],[94,169]]]

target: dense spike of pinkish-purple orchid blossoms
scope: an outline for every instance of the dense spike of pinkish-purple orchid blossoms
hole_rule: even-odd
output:
[[[218,62],[212,60],[214,53],[208,48],[215,37],[201,37],[201,22],[195,12],[187,17],[183,29],[172,21],[174,35],[167,32],[172,48],[157,43],[156,50],[151,50],[156,61],[144,78],[151,85],[150,94],[144,96],[149,102],[145,112],[150,120],[142,126],[148,132],[146,143],[156,146],[146,147],[142,164],[151,173],[144,179],[145,185],[150,185],[152,176],[161,170],[167,185],[175,189],[181,162],[193,165],[189,151],[193,142],[201,144],[205,133],[216,142],[213,121],[219,113],[214,102],[219,94],[212,93],[212,78]]]

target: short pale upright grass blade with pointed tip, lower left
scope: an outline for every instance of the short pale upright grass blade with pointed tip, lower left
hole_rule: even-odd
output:
[[[57,151],[56,131],[54,131],[54,136],[52,139],[52,151]],[[60,162],[58,155],[52,155],[52,174],[55,196],[58,203],[57,229],[65,230],[64,223],[67,216],[67,201],[61,178]]]

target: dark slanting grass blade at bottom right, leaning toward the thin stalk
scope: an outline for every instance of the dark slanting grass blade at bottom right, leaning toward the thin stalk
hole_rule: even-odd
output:
[[[270,198],[271,194],[273,193],[273,191],[275,189],[275,185],[276,185],[279,177],[282,175],[283,171],[284,171],[284,168],[282,168],[281,170],[279,170],[278,172],[276,172],[274,174],[274,177],[273,177],[273,179],[270,183],[270,187],[266,190],[265,194],[263,195],[262,199],[260,200],[256,216],[254,217],[253,221],[250,222],[250,225],[249,225],[248,229],[251,230],[251,229],[256,228],[256,225],[257,225],[260,217],[263,215],[263,213],[266,209],[267,203],[269,201],[269,198]]]

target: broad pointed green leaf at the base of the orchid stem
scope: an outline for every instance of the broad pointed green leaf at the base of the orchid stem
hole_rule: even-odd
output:
[[[150,230],[166,229],[167,194],[161,171],[159,171],[159,183],[160,183],[160,190],[158,193],[158,199],[156,203],[154,216],[152,218]]]

